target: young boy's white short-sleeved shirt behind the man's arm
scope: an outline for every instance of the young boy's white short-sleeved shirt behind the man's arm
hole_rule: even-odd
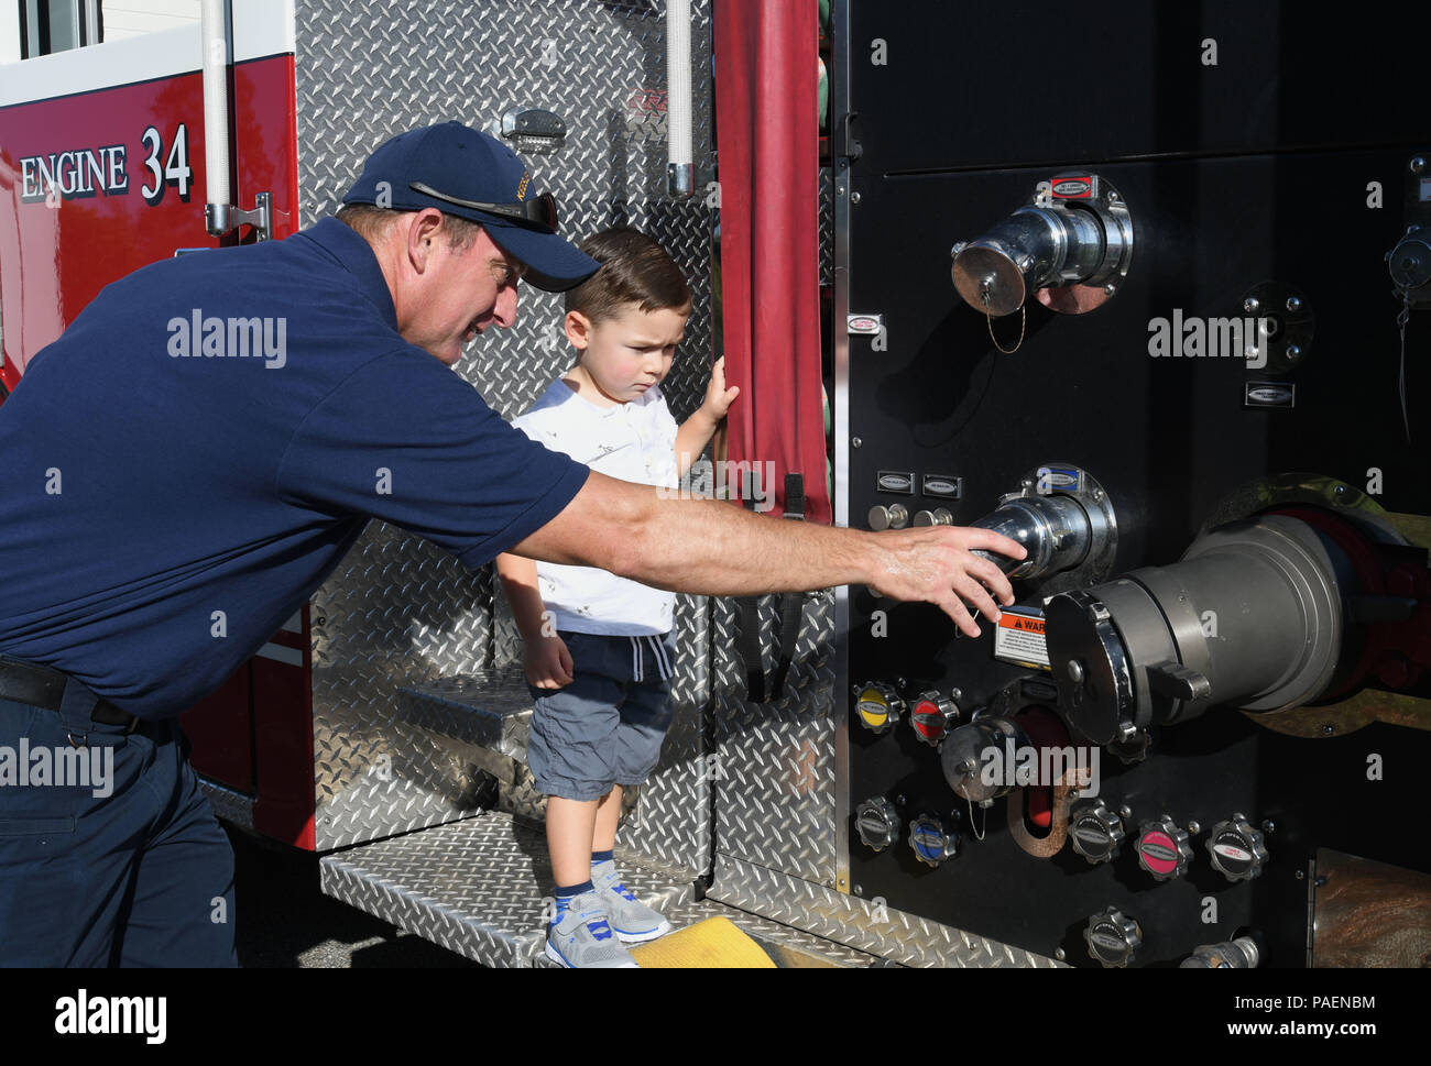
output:
[[[598,408],[561,378],[512,425],[554,452],[638,485],[675,488],[675,419],[661,388],[640,399]],[[648,588],[595,567],[537,564],[537,587],[558,630],[641,637],[670,632],[675,594]]]

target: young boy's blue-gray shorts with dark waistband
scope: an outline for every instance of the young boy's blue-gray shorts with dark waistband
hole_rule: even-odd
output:
[[[527,685],[537,701],[527,764],[537,790],[600,800],[611,786],[643,784],[671,725],[675,637],[557,634],[575,680],[565,688]]]

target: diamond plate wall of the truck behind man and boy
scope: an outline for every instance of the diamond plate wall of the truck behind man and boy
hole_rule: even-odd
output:
[[[648,232],[695,295],[664,391],[675,418],[708,378],[711,217],[704,197],[665,196],[665,33],[661,6],[531,0],[474,6],[296,0],[301,222],[331,215],[368,153],[448,119],[487,126],[512,106],[567,122],[565,147],[529,162],[561,202],[572,238],[611,223]],[[711,170],[710,0],[693,4],[695,166]],[[474,343],[458,372],[507,418],[571,359],[561,299],[521,292],[518,322]],[[688,600],[688,598],[683,598]],[[645,804],[622,840],[663,861],[708,869],[708,790],[700,715],[708,701],[704,601],[678,607],[677,723]],[[315,837],[319,850],[462,817],[482,774],[461,744],[406,721],[398,690],[501,668],[519,657],[494,607],[489,569],[468,571],[426,542],[373,522],[312,597]],[[504,804],[539,814],[521,787]],[[539,797],[535,797],[539,800]]]

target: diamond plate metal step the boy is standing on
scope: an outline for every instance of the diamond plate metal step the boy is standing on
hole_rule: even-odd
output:
[[[539,827],[505,814],[365,844],[319,863],[322,890],[359,910],[489,966],[531,966],[552,906]],[[637,866],[625,884],[647,904],[675,909],[691,884]]]

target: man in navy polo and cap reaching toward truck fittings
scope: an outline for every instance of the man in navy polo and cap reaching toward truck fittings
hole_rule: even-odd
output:
[[[449,368],[512,325],[518,280],[560,292],[597,263],[492,137],[394,137],[345,205],[114,282],[0,406],[0,966],[235,964],[233,854],[175,720],[369,518],[469,567],[511,551],[713,595],[867,584],[970,634],[964,601],[1012,602],[969,551],[1023,557],[997,534],[658,499],[508,426]]]

